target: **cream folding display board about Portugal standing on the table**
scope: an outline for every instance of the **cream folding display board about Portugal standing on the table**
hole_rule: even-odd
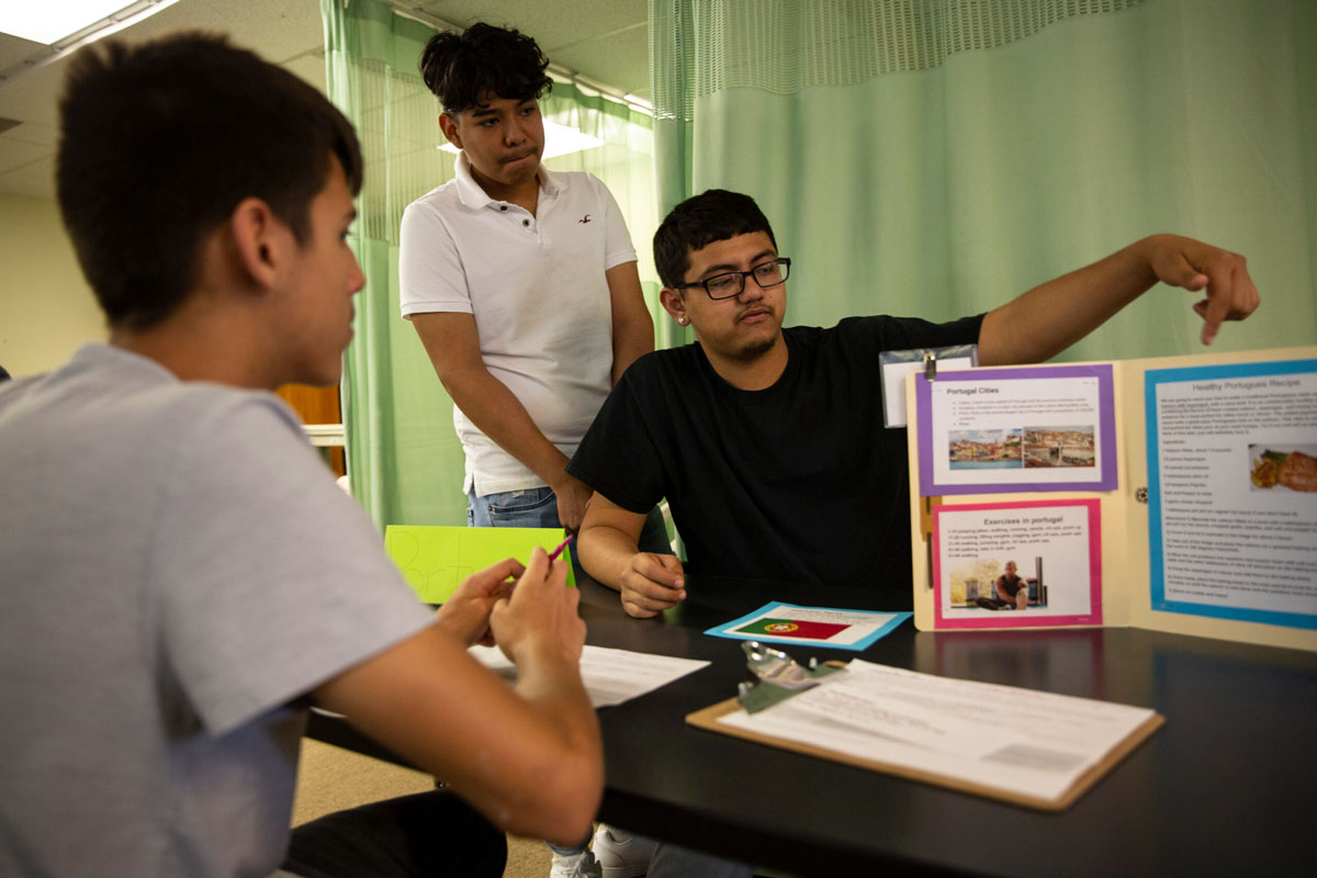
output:
[[[906,376],[921,631],[1317,650],[1317,346]]]

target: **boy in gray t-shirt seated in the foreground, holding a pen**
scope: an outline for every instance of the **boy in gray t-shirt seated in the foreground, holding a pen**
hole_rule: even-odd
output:
[[[338,379],[350,125],[184,34],[84,50],[61,126],[111,337],[0,386],[0,874],[498,875],[504,831],[579,839],[602,756],[565,563],[508,559],[429,613],[269,392]],[[491,638],[515,688],[466,653]],[[335,815],[290,850],[312,703],[465,804]]]

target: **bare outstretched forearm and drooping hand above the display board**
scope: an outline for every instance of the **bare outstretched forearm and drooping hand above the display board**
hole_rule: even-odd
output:
[[[1212,344],[1222,321],[1243,320],[1258,307],[1258,290],[1242,255],[1177,234],[1154,234],[988,312],[979,330],[979,362],[1048,359],[1159,280],[1193,292],[1206,290],[1193,305],[1204,321],[1204,345]]]

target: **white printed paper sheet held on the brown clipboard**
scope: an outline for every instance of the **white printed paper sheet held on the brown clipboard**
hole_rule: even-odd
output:
[[[1152,711],[852,661],[776,707],[718,721],[1048,800]]]

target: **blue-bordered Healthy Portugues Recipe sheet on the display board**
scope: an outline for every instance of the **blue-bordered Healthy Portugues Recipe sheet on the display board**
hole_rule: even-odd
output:
[[[1152,608],[1317,628],[1317,361],[1148,370]]]

